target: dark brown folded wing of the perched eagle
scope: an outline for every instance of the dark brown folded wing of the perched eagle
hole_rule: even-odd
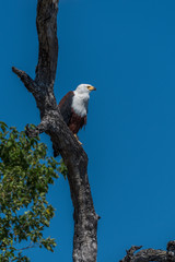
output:
[[[66,94],[62,99],[59,103],[59,109],[60,112],[63,117],[65,122],[69,126],[71,116],[72,116],[72,110],[71,110],[71,106],[72,106],[72,99],[73,99],[73,91],[68,92],[68,94]]]

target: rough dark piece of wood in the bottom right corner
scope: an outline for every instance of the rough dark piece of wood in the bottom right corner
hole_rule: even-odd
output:
[[[119,262],[175,262],[175,241],[170,241],[166,247],[166,251],[161,249],[144,249],[136,253],[140,247],[131,247],[127,250],[127,255]]]

